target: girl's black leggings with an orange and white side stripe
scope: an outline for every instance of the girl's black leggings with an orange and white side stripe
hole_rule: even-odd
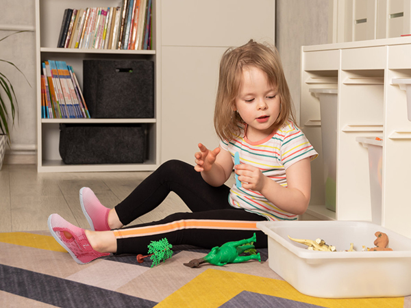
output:
[[[229,205],[228,195],[230,188],[227,185],[213,187],[203,180],[201,174],[194,167],[171,160],[162,164],[155,172],[147,177],[127,198],[116,205],[116,213],[121,223],[129,224],[136,218],[155,209],[168,196],[175,192],[192,213],[176,213],[157,222],[138,224],[123,227],[114,233],[117,238],[117,254],[147,253],[147,245],[151,241],[167,240],[173,244],[189,244],[203,248],[221,246],[225,242],[232,242],[251,238],[257,234],[256,247],[266,247],[266,235],[255,227],[242,229],[233,227],[233,221],[245,221],[247,224],[266,220],[264,216],[252,214],[244,209],[236,209]],[[219,225],[204,227],[204,220],[218,220]],[[197,222],[199,226],[197,226]],[[201,223],[200,223],[201,222]],[[208,221],[209,222],[209,221]],[[206,224],[208,224],[206,222]],[[196,224],[196,227],[188,227]],[[165,225],[165,227],[164,227]],[[177,229],[168,229],[170,225],[178,225]],[[227,228],[225,226],[228,226]],[[255,225],[255,224],[254,224]],[[148,226],[160,226],[155,232],[142,231]],[[149,228],[154,229],[154,228]],[[134,233],[136,230],[136,233]],[[130,233],[125,235],[126,233]]]

